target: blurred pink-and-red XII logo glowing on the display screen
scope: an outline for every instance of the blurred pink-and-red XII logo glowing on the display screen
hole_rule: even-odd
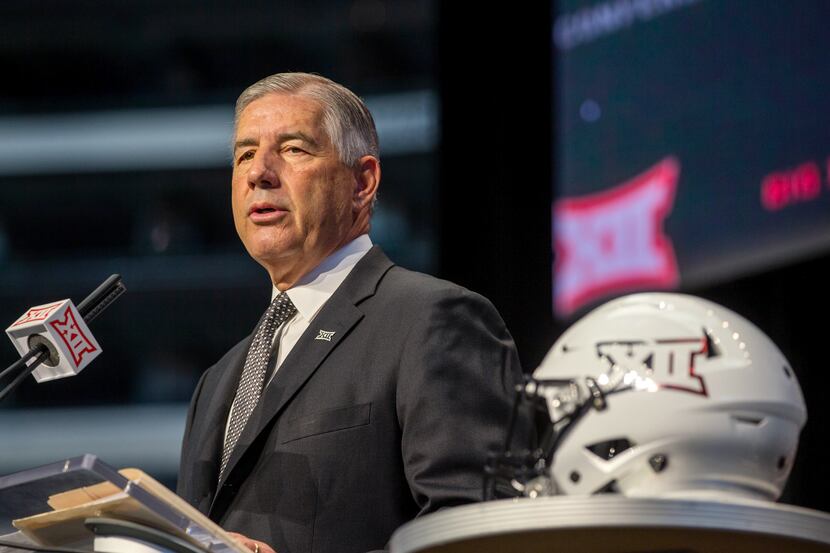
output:
[[[554,308],[568,315],[616,292],[672,288],[678,280],[663,221],[680,165],[668,157],[614,188],[553,206]]]

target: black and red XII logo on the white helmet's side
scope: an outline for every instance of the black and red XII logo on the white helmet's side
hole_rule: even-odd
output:
[[[695,373],[695,360],[708,354],[706,337],[654,342],[600,342],[597,355],[624,373],[634,371],[659,388],[708,396],[703,377]]]

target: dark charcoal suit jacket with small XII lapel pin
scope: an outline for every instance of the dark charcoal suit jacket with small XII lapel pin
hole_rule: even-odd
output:
[[[250,340],[202,376],[182,448],[178,493],[225,529],[278,553],[367,551],[418,515],[481,500],[521,378],[486,299],[374,247],[264,391],[217,491]]]

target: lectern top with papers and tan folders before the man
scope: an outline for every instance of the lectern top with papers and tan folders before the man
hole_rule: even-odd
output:
[[[250,553],[137,469],[94,455],[0,477],[0,553],[73,548],[106,553]]]

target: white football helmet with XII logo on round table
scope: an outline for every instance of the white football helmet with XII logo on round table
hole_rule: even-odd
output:
[[[795,373],[769,337],[683,294],[598,307],[565,331],[533,379],[558,431],[550,477],[560,494],[775,501],[807,419]],[[558,383],[544,391],[545,381]],[[566,419],[571,427],[557,428]]]

